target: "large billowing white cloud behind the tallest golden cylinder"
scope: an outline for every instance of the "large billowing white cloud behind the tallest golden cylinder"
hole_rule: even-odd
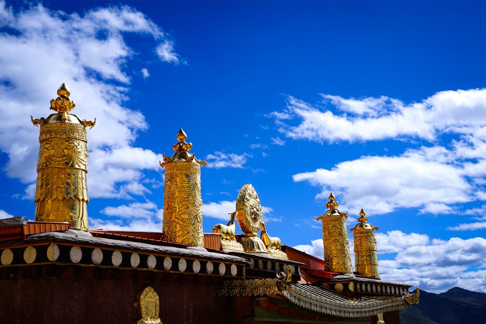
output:
[[[173,41],[128,6],[99,7],[80,16],[51,11],[40,3],[14,13],[0,1],[0,17],[7,27],[0,35],[0,117],[9,120],[0,130],[0,150],[8,155],[7,176],[20,179],[27,189],[35,183],[39,130],[26,116],[47,117],[50,99],[66,82],[76,101],[72,113],[97,120],[87,131],[90,197],[147,192],[140,184],[151,179],[141,171],[162,172],[161,156],[133,146],[148,124],[141,112],[124,106],[131,80],[124,68],[136,55],[124,36],[152,42],[162,61],[178,63]],[[103,184],[94,180],[102,177]],[[27,190],[26,198],[32,193]]]

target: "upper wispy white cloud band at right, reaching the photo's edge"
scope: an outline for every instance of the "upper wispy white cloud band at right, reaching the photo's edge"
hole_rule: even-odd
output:
[[[433,140],[452,127],[483,127],[486,115],[486,89],[442,91],[412,104],[388,97],[344,99],[322,95],[350,115],[335,115],[330,110],[289,97],[284,112],[274,112],[279,131],[295,139],[323,141],[382,140],[416,136]],[[379,113],[379,114],[378,114]],[[374,117],[378,115],[377,117]],[[297,126],[282,120],[299,119]]]

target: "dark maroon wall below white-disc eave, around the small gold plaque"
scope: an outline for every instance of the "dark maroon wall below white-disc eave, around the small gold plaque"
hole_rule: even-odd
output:
[[[227,323],[227,299],[211,284],[39,278],[0,280],[0,323],[136,323],[139,292],[151,286],[160,319],[171,323]]]

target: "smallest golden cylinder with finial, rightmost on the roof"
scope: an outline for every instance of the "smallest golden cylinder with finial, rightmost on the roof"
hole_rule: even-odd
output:
[[[368,218],[362,208],[358,218],[359,223],[354,228],[349,229],[354,236],[354,264],[357,273],[379,278],[375,238],[375,231],[379,227],[373,227],[366,222],[367,220]]]

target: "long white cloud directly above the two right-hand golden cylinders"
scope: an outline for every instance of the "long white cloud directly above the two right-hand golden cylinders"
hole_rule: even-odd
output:
[[[461,169],[429,160],[421,150],[401,156],[363,156],[293,178],[321,187],[317,198],[327,199],[332,191],[349,210],[365,208],[370,214],[424,206],[428,212],[442,212],[449,210],[443,205],[473,200],[473,187]]]

